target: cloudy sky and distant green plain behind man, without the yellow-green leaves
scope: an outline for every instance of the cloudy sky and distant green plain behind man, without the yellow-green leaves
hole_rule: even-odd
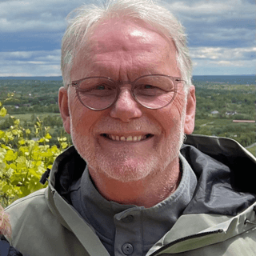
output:
[[[0,97],[14,94],[5,104],[25,126],[33,126],[38,116],[46,126],[53,126],[54,135],[62,131],[57,93],[62,86],[66,17],[75,8],[100,2],[107,1],[0,0],[0,80],[6,79],[1,81]],[[178,18],[187,34],[198,101],[194,133],[251,145],[254,124],[233,123],[233,119],[255,119],[255,1],[158,2]],[[0,125],[9,123],[6,117]]]

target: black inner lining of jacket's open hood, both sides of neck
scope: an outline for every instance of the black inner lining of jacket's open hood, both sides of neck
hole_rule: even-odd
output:
[[[185,143],[181,154],[198,178],[194,199],[185,214],[234,216],[255,201],[256,186],[252,177],[256,159],[238,142],[229,138],[188,135]],[[82,176],[85,168],[86,162],[74,146],[56,158],[49,180],[67,202],[70,202],[71,183]]]

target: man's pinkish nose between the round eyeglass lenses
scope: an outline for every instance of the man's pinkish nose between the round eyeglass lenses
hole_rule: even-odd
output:
[[[142,116],[141,106],[132,97],[128,86],[122,86],[118,100],[111,107],[110,116],[122,122],[130,122],[131,119]]]

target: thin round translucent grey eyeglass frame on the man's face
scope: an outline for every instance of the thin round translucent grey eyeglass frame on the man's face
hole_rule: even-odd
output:
[[[134,94],[134,85],[135,85],[135,83],[138,81],[138,79],[146,78],[146,77],[152,77],[152,76],[162,76],[162,77],[170,78],[170,80],[171,80],[172,82],[174,82],[174,96],[173,96],[173,98],[171,98],[170,102],[168,102],[165,106],[161,106],[161,107],[158,107],[158,108],[152,108],[152,107],[149,107],[149,106],[144,106],[141,102],[138,101],[138,99],[136,98],[136,96],[135,96],[135,94]],[[110,80],[111,82],[114,83],[114,85],[116,86],[116,89],[117,89],[117,95],[116,95],[116,97],[114,98],[114,102],[112,102],[112,103],[110,104],[110,106],[113,106],[114,103],[117,102],[117,100],[118,100],[118,97],[119,97],[119,94],[120,94],[120,91],[121,91],[119,86],[121,86],[121,85],[123,85],[123,84],[130,84],[130,85],[131,85],[130,94],[131,94],[131,96],[134,98],[134,101],[135,101],[135,102],[138,102],[138,104],[140,104],[141,106],[144,106],[144,107],[146,107],[147,109],[150,109],[150,110],[160,110],[160,109],[162,109],[162,108],[164,108],[164,107],[170,105],[170,103],[173,102],[173,100],[174,100],[174,98],[175,98],[175,96],[176,96],[176,94],[177,94],[177,89],[178,89],[178,88],[177,88],[177,87],[178,87],[178,86],[177,86],[177,82],[185,82],[185,83],[186,83],[186,81],[185,81],[185,80],[182,80],[182,78],[180,78],[180,77],[172,77],[172,76],[167,75],[167,74],[146,74],[146,75],[142,75],[142,76],[139,77],[139,78],[136,78],[134,81],[130,81],[130,80],[128,80],[128,81],[120,81],[120,80],[116,81],[116,80],[114,80],[114,79],[112,79],[112,78],[98,77],[98,76],[95,76],[95,77],[88,77],[88,78],[82,78],[82,79],[79,79],[79,80],[76,80],[76,81],[72,81],[71,84],[68,84],[68,86],[74,86],[74,88],[75,88],[75,90],[76,90],[76,94],[77,94],[77,96],[78,96],[78,99],[79,99],[79,101],[82,103],[83,106],[86,106],[86,104],[84,104],[84,103],[82,102],[82,99],[81,99],[80,96],[79,96],[79,83],[82,82],[83,80],[90,79],[90,78],[105,78],[105,79],[108,79],[108,80]],[[110,106],[106,106],[105,108],[99,109],[99,110],[98,110],[98,109],[94,109],[93,107],[90,107],[90,106],[86,106],[86,107],[87,107],[88,109],[90,109],[90,110],[101,111],[101,110],[106,110],[106,109],[110,108]]]

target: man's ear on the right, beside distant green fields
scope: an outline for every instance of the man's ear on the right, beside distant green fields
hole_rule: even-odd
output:
[[[195,108],[196,108],[195,88],[194,86],[190,86],[190,92],[187,95],[187,102],[186,102],[186,118],[185,118],[185,124],[184,124],[185,134],[192,134],[194,131]]]

